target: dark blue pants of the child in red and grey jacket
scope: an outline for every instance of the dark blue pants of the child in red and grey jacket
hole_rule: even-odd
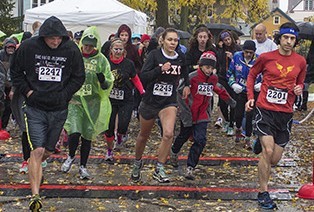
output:
[[[203,152],[203,149],[206,145],[206,131],[207,131],[207,122],[201,122],[197,124],[193,124],[192,127],[184,127],[181,122],[180,133],[176,137],[174,144],[172,145],[172,152],[178,153],[180,152],[183,144],[189,139],[191,135],[193,135],[193,145],[190,148],[187,166],[191,166],[193,168],[198,164],[199,158]]]

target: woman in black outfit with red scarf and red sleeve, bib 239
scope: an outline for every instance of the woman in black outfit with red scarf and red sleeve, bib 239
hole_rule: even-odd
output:
[[[134,63],[125,58],[127,52],[124,49],[122,40],[115,39],[111,42],[110,47],[110,67],[115,78],[113,89],[110,93],[110,102],[112,113],[110,116],[109,129],[105,133],[107,141],[106,160],[113,160],[113,140],[116,124],[116,116],[118,115],[117,140],[115,141],[115,149],[122,147],[126,140],[126,133],[132,117],[134,104],[134,86],[138,89],[141,95],[144,94],[143,85],[136,74]]]

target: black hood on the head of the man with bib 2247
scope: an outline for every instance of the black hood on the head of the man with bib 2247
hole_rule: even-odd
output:
[[[63,23],[55,16],[47,18],[39,29],[39,37],[48,36],[61,36],[63,39],[69,39]]]

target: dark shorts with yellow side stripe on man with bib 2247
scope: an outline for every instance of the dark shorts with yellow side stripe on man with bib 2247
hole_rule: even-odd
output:
[[[53,152],[67,115],[67,109],[43,111],[30,106],[24,107],[26,132],[31,150],[43,147]]]

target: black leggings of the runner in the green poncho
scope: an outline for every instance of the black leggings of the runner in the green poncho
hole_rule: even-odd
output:
[[[75,156],[76,149],[79,145],[81,134],[80,133],[73,133],[69,135],[69,155],[71,158]],[[87,159],[91,150],[92,142],[91,140],[87,140],[81,137],[82,144],[81,144],[81,166],[86,166]]]

